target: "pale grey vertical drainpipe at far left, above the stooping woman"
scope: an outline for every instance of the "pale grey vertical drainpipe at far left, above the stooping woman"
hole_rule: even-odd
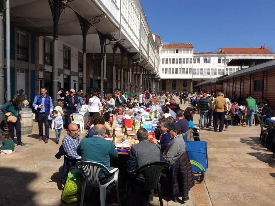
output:
[[[11,99],[11,57],[10,57],[10,1],[6,0],[6,67],[7,67],[7,101]]]

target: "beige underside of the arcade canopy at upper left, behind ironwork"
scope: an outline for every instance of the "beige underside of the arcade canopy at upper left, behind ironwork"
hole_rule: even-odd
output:
[[[90,27],[88,34],[97,34],[97,30],[102,34],[108,34],[119,28],[119,23],[107,17],[107,11],[104,11],[97,1],[74,0],[68,1],[67,5],[58,21],[60,36],[82,34],[75,12],[86,20],[100,19]],[[10,1],[10,11],[12,25],[39,36],[53,34],[53,16],[48,0],[13,0]]]

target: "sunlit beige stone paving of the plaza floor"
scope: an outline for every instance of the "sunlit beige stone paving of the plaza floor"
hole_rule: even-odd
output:
[[[180,105],[181,109],[188,106]],[[199,114],[195,114],[195,125],[198,121]],[[80,136],[84,137],[86,131]],[[61,139],[65,134],[63,130]],[[188,201],[163,200],[164,205],[274,205],[275,160],[259,144],[259,134],[259,126],[229,126],[223,132],[201,129],[201,140],[208,142],[209,168],[205,179],[202,183],[195,182]],[[54,157],[60,147],[55,144],[55,130],[50,129],[50,137],[48,144],[39,142],[35,122],[32,134],[22,136],[26,146],[15,147],[20,152],[0,155],[0,205],[66,205],[60,201],[63,157],[60,160]],[[135,200],[128,202],[135,205]],[[158,197],[150,204],[159,205]],[[86,201],[84,205],[95,202]]]

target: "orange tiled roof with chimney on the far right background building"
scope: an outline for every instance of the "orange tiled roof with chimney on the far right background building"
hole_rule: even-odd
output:
[[[266,48],[219,48],[223,49],[225,54],[274,54]]]

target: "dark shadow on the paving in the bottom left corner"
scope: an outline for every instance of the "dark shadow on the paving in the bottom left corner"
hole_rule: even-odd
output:
[[[35,181],[35,172],[22,172],[10,167],[0,167],[1,200],[0,205],[33,205],[39,206],[33,199],[36,192],[29,190]]]

